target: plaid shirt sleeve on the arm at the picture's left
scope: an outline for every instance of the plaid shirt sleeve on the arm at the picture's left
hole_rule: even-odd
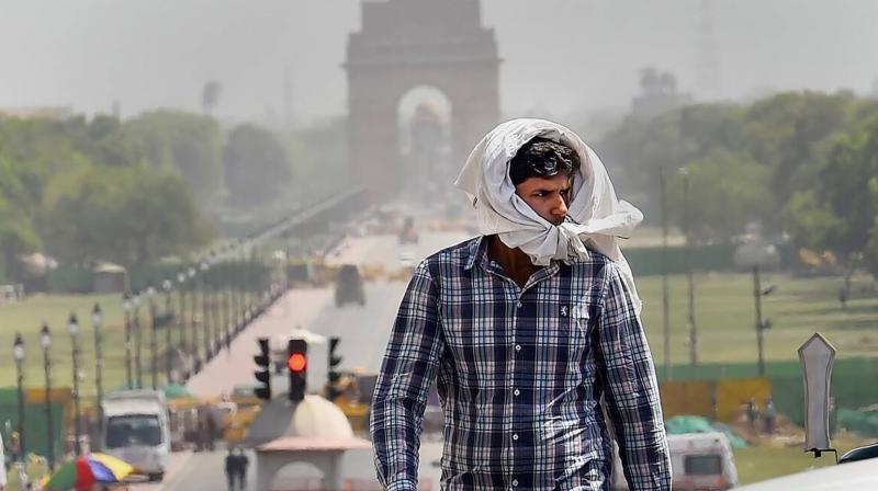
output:
[[[372,398],[375,470],[386,490],[418,489],[420,423],[443,349],[437,285],[425,261],[399,305]]]

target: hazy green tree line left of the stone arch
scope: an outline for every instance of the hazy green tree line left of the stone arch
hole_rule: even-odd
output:
[[[0,279],[21,279],[18,258],[36,251],[65,264],[140,266],[200,250],[225,210],[288,194],[305,147],[295,135],[226,130],[173,110],[127,119],[0,115]]]

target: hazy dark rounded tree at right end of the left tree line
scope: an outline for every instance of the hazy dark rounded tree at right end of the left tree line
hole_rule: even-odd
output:
[[[228,202],[258,206],[280,196],[292,179],[286,149],[262,127],[244,124],[228,134],[224,151]]]

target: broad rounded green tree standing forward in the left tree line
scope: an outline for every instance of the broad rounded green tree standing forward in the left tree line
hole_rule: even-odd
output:
[[[173,174],[93,167],[47,190],[46,249],[69,263],[143,265],[204,246],[211,228]]]

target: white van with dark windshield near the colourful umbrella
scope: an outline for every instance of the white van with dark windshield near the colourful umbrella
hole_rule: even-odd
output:
[[[155,390],[125,390],[101,401],[103,452],[131,464],[151,481],[165,477],[170,453],[170,423],[165,395]]]

